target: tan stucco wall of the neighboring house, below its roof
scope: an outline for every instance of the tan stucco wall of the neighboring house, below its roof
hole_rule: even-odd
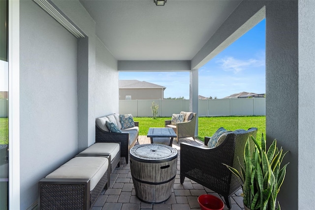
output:
[[[126,100],[126,96],[135,99],[163,99],[163,89],[157,88],[137,88],[137,89],[120,89],[119,100]]]

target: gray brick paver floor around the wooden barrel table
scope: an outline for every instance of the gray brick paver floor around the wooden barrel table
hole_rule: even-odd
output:
[[[180,142],[188,142],[195,145],[203,144],[202,141],[192,138],[181,139]],[[139,136],[137,144],[150,143],[150,138]],[[202,194],[211,194],[219,198],[220,195],[212,190],[185,178],[183,184],[180,183],[180,145],[173,141],[173,148],[178,151],[177,173],[174,182],[174,189],[171,197],[161,204],[147,204],[141,202],[134,190],[130,162],[126,164],[125,158],[122,158],[119,168],[116,168],[110,176],[110,186],[103,190],[98,196],[92,210],[200,210],[197,198]],[[242,190],[239,190],[232,196],[231,210],[243,210],[243,198],[240,196]],[[222,199],[222,198],[221,198]],[[223,199],[224,202],[224,199]],[[227,210],[227,207],[224,207]]]

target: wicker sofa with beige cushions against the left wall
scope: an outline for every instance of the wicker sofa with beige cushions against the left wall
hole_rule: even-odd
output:
[[[106,121],[115,123],[122,133],[110,132]],[[120,155],[129,159],[129,150],[134,146],[139,136],[139,122],[134,122],[134,127],[122,129],[119,114],[110,114],[95,119],[95,142],[120,142]]]

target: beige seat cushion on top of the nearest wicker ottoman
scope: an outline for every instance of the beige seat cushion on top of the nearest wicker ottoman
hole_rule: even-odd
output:
[[[89,178],[92,191],[108,169],[108,158],[74,157],[46,178]]]

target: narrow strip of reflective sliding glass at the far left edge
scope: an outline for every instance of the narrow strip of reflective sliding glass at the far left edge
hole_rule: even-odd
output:
[[[0,0],[0,210],[8,210],[8,0]]]

